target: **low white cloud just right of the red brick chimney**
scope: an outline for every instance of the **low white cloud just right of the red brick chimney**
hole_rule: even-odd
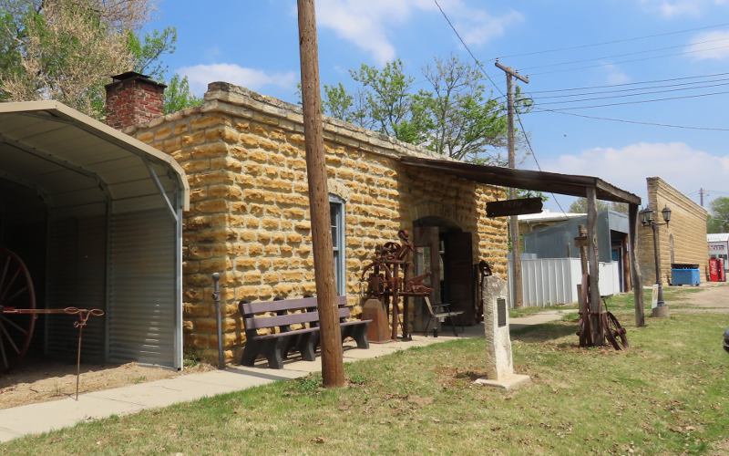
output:
[[[190,89],[198,95],[205,92],[210,82],[215,81],[230,82],[253,90],[260,90],[267,86],[293,88],[297,80],[293,71],[268,73],[261,69],[241,67],[233,63],[181,67],[177,72],[188,77]]]

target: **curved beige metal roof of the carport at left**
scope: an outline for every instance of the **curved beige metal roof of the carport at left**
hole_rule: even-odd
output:
[[[165,204],[160,187],[180,189],[190,207],[185,171],[172,157],[57,101],[0,103],[0,179],[35,189],[56,209],[157,206]]]

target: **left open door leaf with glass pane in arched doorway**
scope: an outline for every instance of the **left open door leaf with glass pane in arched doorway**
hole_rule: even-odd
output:
[[[437,226],[416,226],[413,236],[413,244],[416,247],[415,253],[415,275],[430,273],[430,280],[427,285],[433,287],[432,299],[434,303],[440,302],[440,258],[438,227]],[[423,331],[428,320],[427,310],[423,298],[415,298],[413,329]]]

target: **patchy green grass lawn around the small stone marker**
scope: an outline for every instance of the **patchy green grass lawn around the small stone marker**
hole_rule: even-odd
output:
[[[0,453],[729,452],[729,315],[674,313],[637,329],[627,305],[612,308],[630,350],[580,349],[570,322],[529,326],[512,340],[532,382],[509,393],[472,385],[484,341],[462,339],[347,365],[344,389],[320,389],[316,376],[278,382]]]

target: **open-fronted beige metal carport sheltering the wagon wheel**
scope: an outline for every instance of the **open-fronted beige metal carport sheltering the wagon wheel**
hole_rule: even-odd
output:
[[[169,155],[75,109],[0,103],[0,245],[36,258],[38,307],[106,311],[84,333],[87,360],[181,368],[189,193]],[[64,316],[41,329],[36,353],[73,354]]]

